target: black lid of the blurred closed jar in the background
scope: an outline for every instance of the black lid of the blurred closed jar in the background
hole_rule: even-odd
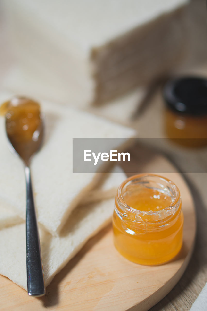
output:
[[[167,106],[182,114],[207,114],[207,79],[181,77],[169,80],[163,89]]]

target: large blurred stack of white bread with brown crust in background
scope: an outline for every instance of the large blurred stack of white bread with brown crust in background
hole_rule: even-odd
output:
[[[2,12],[12,52],[39,81],[41,96],[84,108],[147,85],[181,62],[187,3],[2,0]],[[16,91],[18,79],[11,84]]]

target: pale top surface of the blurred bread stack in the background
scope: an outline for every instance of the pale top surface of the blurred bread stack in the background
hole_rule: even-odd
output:
[[[153,0],[145,0],[145,3],[136,0],[127,2],[125,0],[113,2],[111,0],[88,0],[86,2],[10,0],[2,2],[5,2],[2,10],[5,8],[5,10],[16,12],[15,17],[19,23],[22,19],[25,26],[33,25],[36,32],[42,32],[50,40],[57,39],[57,42],[62,44],[60,48],[68,49],[71,54],[77,52],[74,55],[76,58],[80,55],[87,58],[91,48],[101,47],[131,29],[142,26],[163,13],[175,10],[187,0],[157,0],[156,5]],[[13,17],[12,12],[10,12],[10,18]],[[35,14],[32,14],[34,12]],[[28,14],[31,15],[29,19]],[[14,21],[11,22],[15,26]],[[18,26],[19,24],[16,25],[17,28]],[[22,31],[28,30],[22,29]]]

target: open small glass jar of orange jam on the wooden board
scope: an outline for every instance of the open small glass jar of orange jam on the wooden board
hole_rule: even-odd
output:
[[[182,247],[183,213],[180,192],[169,179],[141,174],[118,188],[113,213],[114,244],[132,262],[168,262]]]

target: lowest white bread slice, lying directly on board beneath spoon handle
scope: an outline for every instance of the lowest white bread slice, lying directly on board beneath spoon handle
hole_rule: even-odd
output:
[[[110,221],[113,207],[114,199],[76,207],[59,236],[40,230],[46,286],[83,244]],[[0,249],[0,273],[26,289],[25,223],[0,230]]]

